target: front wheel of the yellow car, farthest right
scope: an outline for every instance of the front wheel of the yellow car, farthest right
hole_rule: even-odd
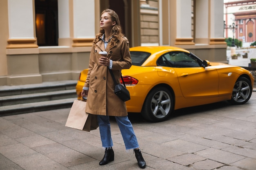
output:
[[[252,83],[245,77],[239,77],[234,85],[231,104],[245,104],[252,95]]]

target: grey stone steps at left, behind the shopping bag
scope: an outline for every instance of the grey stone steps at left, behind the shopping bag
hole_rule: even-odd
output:
[[[77,80],[0,86],[0,116],[71,108]]]

